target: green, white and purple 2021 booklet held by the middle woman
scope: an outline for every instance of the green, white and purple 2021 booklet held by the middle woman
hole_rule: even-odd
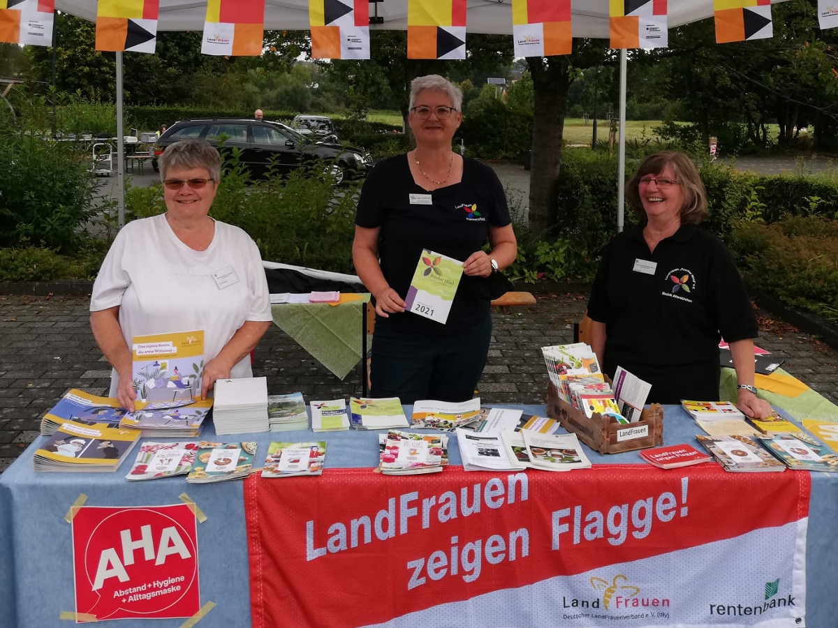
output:
[[[462,277],[463,262],[422,250],[405,297],[406,311],[444,325]]]

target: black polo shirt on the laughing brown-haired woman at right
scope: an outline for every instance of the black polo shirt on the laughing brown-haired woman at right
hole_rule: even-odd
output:
[[[757,320],[722,241],[694,224],[658,243],[642,229],[608,243],[587,314],[606,325],[605,364],[652,383],[650,401],[718,399],[718,344],[757,337]],[[663,401],[661,401],[663,400]]]

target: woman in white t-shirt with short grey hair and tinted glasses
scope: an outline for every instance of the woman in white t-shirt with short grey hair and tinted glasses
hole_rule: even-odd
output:
[[[166,213],[125,225],[102,262],[91,327],[111,363],[111,392],[133,410],[132,338],[204,332],[201,397],[218,378],[251,377],[250,353],[271,324],[265,271],[244,231],[209,218],[219,152],[184,140],[160,157]]]

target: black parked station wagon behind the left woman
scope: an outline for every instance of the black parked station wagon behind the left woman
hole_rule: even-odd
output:
[[[175,122],[154,145],[152,167],[158,172],[158,157],[166,147],[179,140],[206,140],[218,147],[224,135],[225,148],[240,148],[241,162],[254,178],[263,177],[270,163],[280,174],[302,165],[331,171],[336,183],[363,178],[373,166],[369,152],[330,142],[308,139],[279,122],[246,118],[211,118]]]

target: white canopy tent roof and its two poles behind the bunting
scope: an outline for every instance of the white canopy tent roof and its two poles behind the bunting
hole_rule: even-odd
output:
[[[573,37],[608,39],[609,4],[613,0],[572,0]],[[772,4],[785,0],[770,0]],[[308,30],[308,0],[266,0],[266,29]],[[406,30],[408,0],[370,0],[370,28]],[[55,8],[91,22],[97,0],[55,0]],[[667,0],[667,28],[713,16],[713,0]],[[206,0],[159,0],[158,30],[203,30]],[[374,19],[380,18],[380,19]],[[467,33],[512,34],[512,0],[467,0]],[[466,40],[468,49],[468,39]],[[618,231],[623,229],[625,178],[626,50],[620,51]],[[122,53],[116,53],[116,136],[119,138],[117,203],[119,224],[124,215],[124,147],[122,146]]]

